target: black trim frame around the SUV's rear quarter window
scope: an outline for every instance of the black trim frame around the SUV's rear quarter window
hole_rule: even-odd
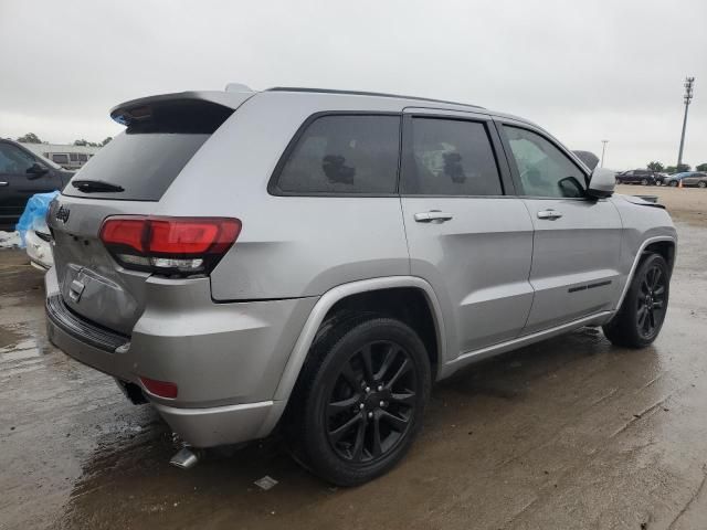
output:
[[[293,151],[297,147],[299,139],[305,134],[307,128],[317,119],[326,117],[326,116],[392,116],[399,118],[399,130],[398,130],[398,169],[395,172],[395,189],[392,193],[361,193],[361,192],[352,192],[345,193],[340,191],[285,191],[282,190],[278,186],[279,177],[285,169],[285,165],[289,160]],[[267,193],[273,197],[400,197],[398,191],[400,188],[400,159],[401,159],[401,147],[402,147],[402,113],[395,112],[378,112],[378,110],[323,110],[319,113],[314,113],[308,116],[303,124],[297,128],[297,131],[292,137],[287,147],[281,155],[277,163],[275,165],[275,169],[273,170],[273,174],[271,174],[270,180],[267,181]]]

